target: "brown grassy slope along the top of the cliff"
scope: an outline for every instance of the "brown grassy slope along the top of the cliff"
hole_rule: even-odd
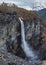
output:
[[[23,8],[18,8],[18,7],[10,7],[10,6],[0,5],[0,12],[3,12],[3,13],[16,12],[17,16],[23,17],[25,20],[39,18],[39,16],[36,13],[34,13],[32,11],[27,11]]]

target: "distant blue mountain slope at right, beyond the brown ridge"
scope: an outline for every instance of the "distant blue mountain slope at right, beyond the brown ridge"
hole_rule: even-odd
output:
[[[42,19],[42,24],[46,28],[46,8],[35,12],[40,16],[40,18]]]

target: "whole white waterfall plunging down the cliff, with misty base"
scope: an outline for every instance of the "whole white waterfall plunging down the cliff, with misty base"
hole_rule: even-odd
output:
[[[21,40],[22,40],[21,47],[22,47],[25,55],[27,56],[28,61],[38,64],[38,62],[40,61],[38,54],[36,51],[33,50],[32,47],[29,46],[29,44],[25,40],[24,22],[21,20],[21,18],[19,18],[19,20],[21,23]]]

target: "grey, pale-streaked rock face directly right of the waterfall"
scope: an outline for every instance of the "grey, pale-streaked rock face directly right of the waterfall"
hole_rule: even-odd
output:
[[[39,19],[29,20],[25,22],[25,34],[26,40],[35,47],[37,47],[40,43],[40,33],[41,33],[41,23]],[[36,44],[37,43],[37,44]]]

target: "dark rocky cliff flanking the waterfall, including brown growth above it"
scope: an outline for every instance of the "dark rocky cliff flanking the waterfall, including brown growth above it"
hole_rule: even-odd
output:
[[[18,11],[17,11],[18,10]],[[0,50],[27,60],[21,48],[21,25],[19,17],[23,18],[26,41],[37,51],[41,60],[46,59],[46,47],[42,42],[43,29],[39,16],[33,12],[15,9],[14,13],[0,13]],[[4,52],[4,51],[2,51]]]

